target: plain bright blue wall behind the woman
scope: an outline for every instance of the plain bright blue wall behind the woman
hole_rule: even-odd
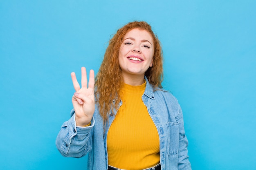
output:
[[[194,170],[256,170],[255,0],[0,1],[0,169],[85,170],[55,138],[70,73],[96,72],[110,35],[133,20],[163,45],[164,88],[183,112]]]

